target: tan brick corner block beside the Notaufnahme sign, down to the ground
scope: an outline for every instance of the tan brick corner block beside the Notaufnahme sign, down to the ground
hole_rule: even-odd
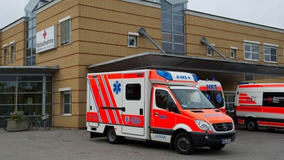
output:
[[[133,8],[133,9],[129,9]],[[60,46],[59,19],[71,16],[72,43]],[[145,51],[158,51],[147,39],[127,47],[128,32],[144,27],[161,40],[160,10],[119,0],[62,0],[36,15],[36,31],[57,26],[57,48],[36,54],[36,65],[58,65],[54,73],[53,125],[85,127],[86,66]],[[58,88],[71,87],[72,115],[60,115]]]

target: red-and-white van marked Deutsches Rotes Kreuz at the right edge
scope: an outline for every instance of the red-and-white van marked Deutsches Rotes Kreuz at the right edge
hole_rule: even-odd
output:
[[[234,105],[237,122],[249,131],[284,128],[284,83],[240,84]]]

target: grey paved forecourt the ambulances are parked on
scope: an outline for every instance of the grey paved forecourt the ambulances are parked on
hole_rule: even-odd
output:
[[[106,138],[89,138],[86,130],[50,128],[45,131],[7,132],[0,129],[0,159],[284,159],[284,129],[256,132],[237,125],[234,142],[222,150],[198,148],[192,155],[178,154],[169,145],[125,140],[109,144]]]

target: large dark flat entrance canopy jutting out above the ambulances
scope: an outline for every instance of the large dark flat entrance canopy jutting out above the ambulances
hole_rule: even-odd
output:
[[[93,72],[160,69],[195,73],[200,79],[215,77],[222,82],[284,76],[284,66],[144,52],[87,66]]]

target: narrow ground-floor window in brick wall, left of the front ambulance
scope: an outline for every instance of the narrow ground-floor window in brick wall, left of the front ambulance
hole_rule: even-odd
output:
[[[71,115],[71,88],[59,88],[58,91],[60,92],[60,115]]]

